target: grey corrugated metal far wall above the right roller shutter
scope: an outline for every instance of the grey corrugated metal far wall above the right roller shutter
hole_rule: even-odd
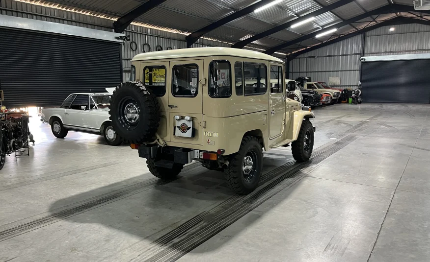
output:
[[[366,33],[364,55],[430,53],[430,26],[423,24],[384,26]],[[310,76],[315,81],[340,77],[342,88],[355,88],[360,80],[361,35],[319,48],[290,61],[290,78]]]

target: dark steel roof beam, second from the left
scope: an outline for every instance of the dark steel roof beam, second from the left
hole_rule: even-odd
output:
[[[259,2],[256,2],[254,4],[249,5],[248,7],[243,8],[242,10],[239,10],[237,12],[234,12],[212,24],[208,24],[203,28],[200,28],[199,30],[189,34],[186,37],[187,40],[187,48],[190,48],[192,44],[194,44],[200,37],[202,37],[204,34],[209,33],[210,31],[218,28],[221,25],[230,23],[238,18],[241,18],[242,16],[245,16],[247,14],[250,14],[254,12],[255,9],[265,6],[266,4],[272,2],[273,0],[261,0]]]

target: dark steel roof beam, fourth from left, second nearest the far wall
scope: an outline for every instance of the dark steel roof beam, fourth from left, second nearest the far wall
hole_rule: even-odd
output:
[[[339,27],[342,27],[342,26],[354,23],[356,21],[365,19],[365,18],[370,17],[370,16],[380,15],[380,14],[396,13],[396,12],[407,12],[407,11],[412,11],[412,10],[414,10],[414,7],[410,6],[410,5],[403,5],[403,4],[384,5],[382,7],[376,8],[375,10],[366,12],[366,13],[361,14],[361,15],[358,15],[356,17],[353,17],[351,19],[345,20],[345,21],[340,22],[338,24],[334,24],[334,25],[326,27],[324,29],[320,29],[320,30],[314,31],[314,32],[312,32],[312,33],[310,33],[308,35],[304,35],[302,37],[299,37],[299,38],[293,39],[291,41],[285,42],[283,44],[277,45],[275,47],[269,48],[266,51],[264,51],[264,53],[266,53],[266,54],[273,54],[275,51],[277,51],[279,49],[286,48],[286,47],[291,46],[291,45],[293,45],[295,43],[299,43],[299,42],[302,42],[304,40],[308,40],[310,38],[314,38],[318,34],[320,34],[322,31],[328,31],[328,30],[331,30],[331,29],[339,28]]]

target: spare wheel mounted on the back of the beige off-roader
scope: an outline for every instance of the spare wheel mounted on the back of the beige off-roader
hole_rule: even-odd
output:
[[[157,96],[140,82],[118,86],[110,98],[110,120],[116,133],[126,143],[153,142],[160,125]]]

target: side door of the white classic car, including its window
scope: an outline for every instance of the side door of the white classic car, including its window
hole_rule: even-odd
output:
[[[82,130],[91,129],[91,110],[88,110],[89,95],[76,95],[75,100],[68,109],[66,109],[65,125]],[[85,109],[82,109],[85,107]]]

